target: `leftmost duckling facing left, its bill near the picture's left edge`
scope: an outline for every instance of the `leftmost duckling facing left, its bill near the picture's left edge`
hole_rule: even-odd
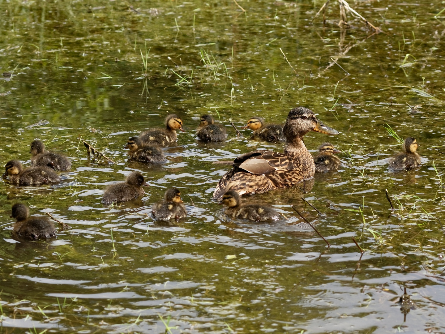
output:
[[[28,167],[23,169],[18,160],[11,160],[4,166],[5,172],[2,175],[6,178],[9,175],[9,182],[16,185],[46,185],[48,183],[59,183],[61,178],[57,173],[46,167]]]

